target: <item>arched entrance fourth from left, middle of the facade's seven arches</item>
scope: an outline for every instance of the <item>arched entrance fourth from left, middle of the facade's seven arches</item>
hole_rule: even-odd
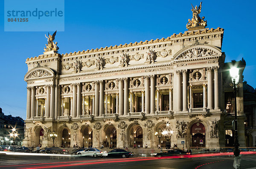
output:
[[[105,129],[105,138],[103,140],[103,146],[116,147],[116,128],[114,126],[108,126]]]

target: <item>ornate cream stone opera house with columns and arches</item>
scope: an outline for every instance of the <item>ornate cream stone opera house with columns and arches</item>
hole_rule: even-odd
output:
[[[44,54],[26,60],[23,144],[52,146],[55,131],[55,146],[226,146],[234,120],[231,63],[221,51],[224,29],[205,26],[193,18],[189,31],[171,37],[69,54],[58,54],[56,32],[49,35]],[[238,63],[244,146],[245,62]]]

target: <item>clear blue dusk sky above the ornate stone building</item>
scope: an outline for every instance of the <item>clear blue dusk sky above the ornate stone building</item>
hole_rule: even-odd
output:
[[[5,115],[25,119],[25,61],[28,57],[43,54],[47,43],[44,34],[52,30],[4,32],[4,1],[0,2],[0,107]],[[188,19],[192,18],[191,3],[198,6],[200,1],[65,0],[64,32],[57,32],[55,41],[59,53],[63,54],[184,33]],[[244,57],[244,80],[253,88],[256,87],[256,54],[252,50],[256,41],[255,6],[253,0],[205,0],[200,15],[207,20],[207,28],[224,28],[222,51],[226,53],[225,62]],[[47,27],[44,24],[38,24],[38,27]]]

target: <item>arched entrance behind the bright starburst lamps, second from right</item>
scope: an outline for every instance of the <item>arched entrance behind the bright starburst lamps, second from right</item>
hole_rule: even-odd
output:
[[[157,144],[161,147],[166,147],[169,149],[172,141],[173,130],[171,129],[169,123],[162,123],[154,135],[157,137]]]

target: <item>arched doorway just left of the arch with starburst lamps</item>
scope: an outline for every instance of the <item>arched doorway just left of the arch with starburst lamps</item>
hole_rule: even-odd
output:
[[[143,129],[140,125],[134,125],[130,129],[130,147],[136,146],[143,147]]]

